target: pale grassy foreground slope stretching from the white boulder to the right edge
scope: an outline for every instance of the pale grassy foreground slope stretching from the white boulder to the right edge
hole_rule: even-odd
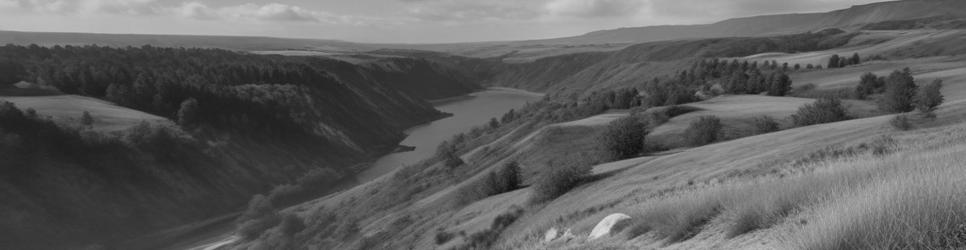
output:
[[[964,128],[908,136],[891,155],[819,159],[794,177],[684,191],[638,207],[625,233],[673,244],[712,222],[723,224],[725,239],[787,223],[793,233],[778,238],[790,249],[964,248]],[[930,139],[936,135],[946,137]]]

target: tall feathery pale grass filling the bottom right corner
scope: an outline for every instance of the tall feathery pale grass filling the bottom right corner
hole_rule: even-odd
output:
[[[866,187],[818,207],[792,243],[801,249],[966,247],[966,146],[879,162]]]

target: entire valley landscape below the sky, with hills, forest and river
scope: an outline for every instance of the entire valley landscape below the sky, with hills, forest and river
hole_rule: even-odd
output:
[[[0,31],[0,248],[963,248],[964,20],[902,0],[469,43]]]

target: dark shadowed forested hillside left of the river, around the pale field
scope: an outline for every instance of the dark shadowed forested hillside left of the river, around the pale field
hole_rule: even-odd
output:
[[[177,126],[104,134],[3,104],[0,154],[16,157],[0,159],[0,232],[39,249],[115,242],[237,210],[306,172],[351,176],[350,167],[393,150],[402,130],[445,115],[426,99],[479,89],[471,79],[414,58],[2,46],[0,88],[26,81]]]

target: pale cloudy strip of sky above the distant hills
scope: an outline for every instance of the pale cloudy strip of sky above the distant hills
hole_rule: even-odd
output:
[[[0,0],[0,30],[242,35],[369,43],[566,37],[819,12],[882,0]]]

